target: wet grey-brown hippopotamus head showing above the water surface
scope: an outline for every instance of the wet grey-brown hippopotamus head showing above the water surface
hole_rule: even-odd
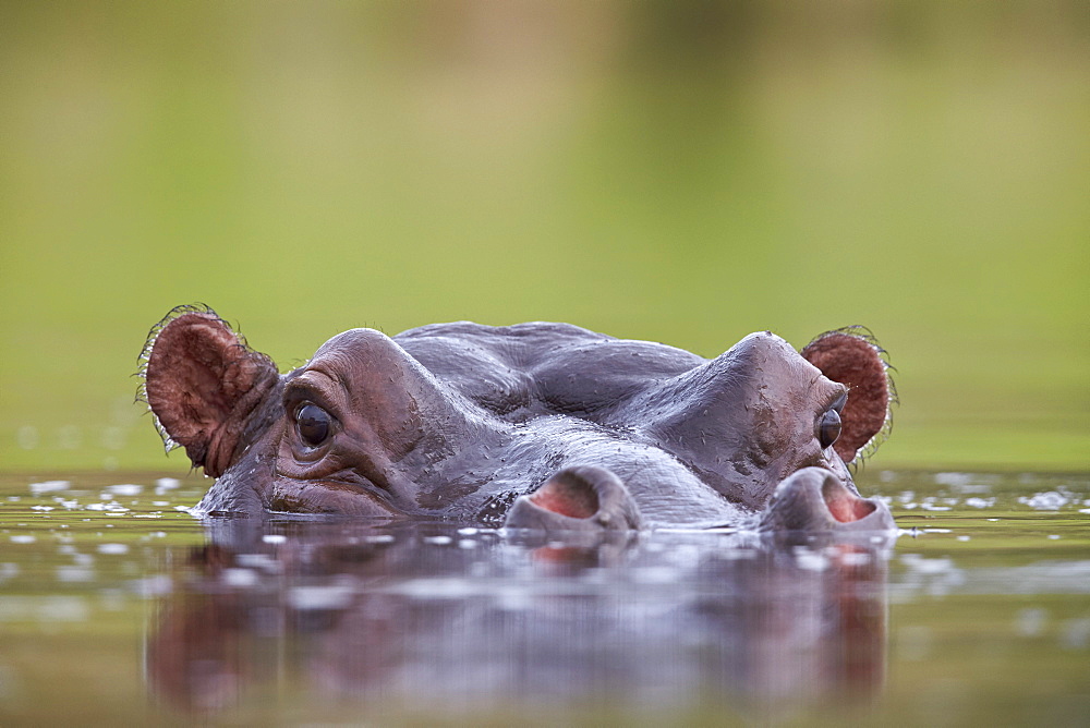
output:
[[[202,515],[334,513],[546,532],[894,527],[848,464],[888,428],[860,327],[714,359],[578,326],[356,328],[280,374],[207,306],[148,335],[143,398],[215,484]]]

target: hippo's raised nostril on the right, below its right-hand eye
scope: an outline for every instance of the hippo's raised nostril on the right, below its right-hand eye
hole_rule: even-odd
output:
[[[761,531],[894,531],[889,508],[861,498],[824,468],[803,468],[785,478],[761,517]]]

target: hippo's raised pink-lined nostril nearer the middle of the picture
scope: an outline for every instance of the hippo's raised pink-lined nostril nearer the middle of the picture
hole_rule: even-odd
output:
[[[613,471],[566,468],[533,493],[520,496],[507,513],[510,529],[542,531],[625,531],[643,522],[631,494]]]

